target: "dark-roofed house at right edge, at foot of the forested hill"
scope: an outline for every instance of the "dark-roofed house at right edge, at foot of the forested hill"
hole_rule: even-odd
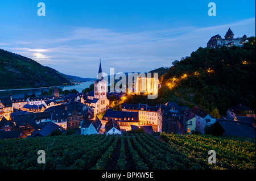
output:
[[[226,114],[229,117],[233,117],[233,118],[235,118],[236,116],[246,116],[246,117],[254,117],[255,119],[254,111],[243,104],[237,104],[236,106],[230,107],[228,111],[226,111]]]

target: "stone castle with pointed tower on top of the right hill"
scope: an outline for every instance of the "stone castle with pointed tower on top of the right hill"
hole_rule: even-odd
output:
[[[234,39],[234,33],[230,30],[226,32],[225,38],[222,39],[221,36],[215,35],[210,38],[210,40],[207,43],[208,48],[220,48],[222,46],[225,47],[232,47],[232,46],[237,46],[237,47],[243,47],[243,44],[248,42],[247,36],[243,35],[243,37],[237,37]]]

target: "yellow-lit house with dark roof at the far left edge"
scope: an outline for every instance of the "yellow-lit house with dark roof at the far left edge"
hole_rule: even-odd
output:
[[[11,95],[6,98],[0,98],[0,121],[3,117],[10,120],[10,115],[13,112],[13,102]]]

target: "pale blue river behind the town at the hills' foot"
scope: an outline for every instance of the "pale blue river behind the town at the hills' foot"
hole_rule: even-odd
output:
[[[82,90],[84,90],[85,88],[88,88],[92,83],[93,83],[92,81],[89,81],[89,82],[82,82],[80,84],[73,85],[73,86],[58,86],[58,87],[63,90],[76,89],[77,91],[82,92]],[[31,95],[33,92],[35,92],[36,95],[40,95],[42,90],[49,91],[50,88],[51,87],[44,87],[44,88],[42,87],[37,89],[0,90],[0,98],[7,97],[9,96],[9,94],[11,94],[13,98],[23,98],[24,94]]]

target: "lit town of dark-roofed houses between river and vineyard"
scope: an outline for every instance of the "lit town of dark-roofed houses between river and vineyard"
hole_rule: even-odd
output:
[[[98,75],[101,73],[100,63]],[[142,79],[137,79],[138,93],[143,86]],[[110,96],[121,103],[119,110],[110,106]],[[255,138],[255,112],[243,104],[230,107],[226,116],[214,117],[196,106],[190,109],[175,102],[155,106],[122,103],[125,98],[123,92],[107,92],[102,77],[94,81],[94,91],[86,93],[62,96],[55,87],[52,95],[0,98],[0,138],[44,137],[56,130],[71,129],[77,134],[122,134],[138,129],[147,133],[205,134],[205,128],[216,122],[227,136]]]

